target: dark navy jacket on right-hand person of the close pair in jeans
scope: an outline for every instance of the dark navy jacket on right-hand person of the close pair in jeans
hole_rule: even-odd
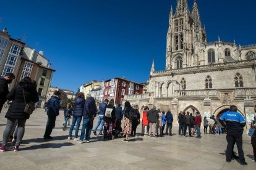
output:
[[[89,97],[83,106],[83,118],[93,118],[96,116],[97,108],[93,97]]]

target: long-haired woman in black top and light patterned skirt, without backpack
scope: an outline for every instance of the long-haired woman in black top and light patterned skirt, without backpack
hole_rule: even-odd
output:
[[[130,105],[130,102],[126,101],[124,103],[124,136],[126,139],[123,139],[123,142],[129,142],[129,134],[132,130],[132,119],[130,118],[130,111],[134,110]]]

